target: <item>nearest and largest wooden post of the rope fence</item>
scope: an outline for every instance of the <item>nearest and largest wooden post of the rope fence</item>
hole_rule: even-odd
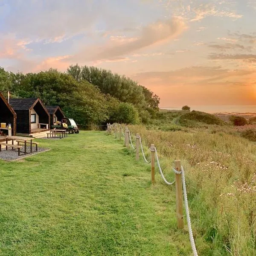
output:
[[[175,170],[180,172],[181,165],[180,161],[174,161]],[[176,189],[176,215],[178,229],[183,229],[183,203],[182,203],[182,181],[181,174],[175,174],[175,189]]]

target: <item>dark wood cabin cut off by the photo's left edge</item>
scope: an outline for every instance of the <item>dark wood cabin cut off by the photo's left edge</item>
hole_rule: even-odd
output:
[[[16,135],[16,118],[17,115],[11,105],[8,103],[6,98],[0,93],[0,123],[6,123],[6,126],[10,123],[12,126],[12,135]],[[6,128],[1,129],[0,131],[4,134],[8,134]]]

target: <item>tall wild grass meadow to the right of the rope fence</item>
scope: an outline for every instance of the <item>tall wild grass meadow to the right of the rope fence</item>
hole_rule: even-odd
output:
[[[253,142],[227,127],[156,131],[131,125],[129,129],[139,133],[144,144],[156,145],[165,170],[171,170],[173,160],[181,160],[196,241],[203,237],[212,243],[211,255],[256,255]]]

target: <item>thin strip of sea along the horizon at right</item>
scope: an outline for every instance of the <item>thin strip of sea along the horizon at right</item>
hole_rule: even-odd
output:
[[[189,105],[190,110],[207,113],[256,113],[256,105]],[[160,107],[168,110],[181,110],[182,106]]]

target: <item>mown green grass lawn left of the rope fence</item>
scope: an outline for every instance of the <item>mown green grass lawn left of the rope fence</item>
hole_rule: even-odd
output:
[[[151,186],[150,166],[119,140],[87,131],[37,141],[51,150],[0,160],[0,255],[192,255],[175,186],[158,174]]]

